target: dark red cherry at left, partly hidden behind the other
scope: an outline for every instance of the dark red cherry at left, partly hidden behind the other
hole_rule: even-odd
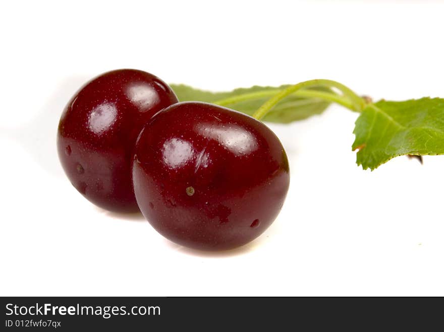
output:
[[[162,80],[121,69],[84,85],[66,106],[57,147],[74,187],[95,205],[116,212],[138,211],[131,158],[143,125],[178,100]]]

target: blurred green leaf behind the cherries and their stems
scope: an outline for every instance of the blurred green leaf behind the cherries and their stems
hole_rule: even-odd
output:
[[[238,99],[234,102],[221,103],[225,107],[252,115],[263,103],[274,94],[279,93],[290,85],[272,86],[252,86],[250,88],[238,88],[228,92],[210,92],[192,88],[184,84],[170,84],[176,92],[179,101],[199,101],[207,103],[223,102],[228,99]],[[329,88],[312,87],[309,90],[331,92]],[[245,97],[244,100],[242,97]],[[289,123],[292,121],[306,119],[312,115],[322,113],[329,105],[320,98],[306,98],[298,95],[298,92],[291,94],[288,98],[276,105],[264,118],[264,121]]]

